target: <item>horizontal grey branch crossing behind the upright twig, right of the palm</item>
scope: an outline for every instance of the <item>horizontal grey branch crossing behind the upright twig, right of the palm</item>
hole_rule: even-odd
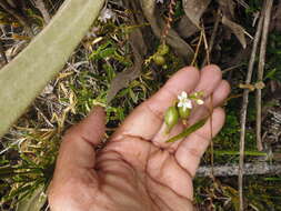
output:
[[[217,167],[200,167],[197,170],[197,177],[210,177],[213,171],[214,177],[233,177],[239,175],[238,164],[217,165]],[[267,162],[245,163],[243,169],[244,175],[264,175],[280,174],[281,164],[269,164]]]

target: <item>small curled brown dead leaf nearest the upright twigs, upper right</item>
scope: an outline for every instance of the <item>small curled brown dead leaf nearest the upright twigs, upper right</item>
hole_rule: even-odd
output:
[[[244,36],[244,29],[240,24],[229,20],[225,16],[222,17],[221,22],[222,24],[231,29],[231,31],[235,34],[235,37],[242,44],[243,49],[245,49],[247,41],[245,41],[245,36]]]

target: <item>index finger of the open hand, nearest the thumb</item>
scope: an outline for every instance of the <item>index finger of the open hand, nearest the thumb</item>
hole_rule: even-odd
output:
[[[179,70],[154,96],[134,109],[111,139],[120,140],[124,135],[131,135],[151,140],[163,123],[165,110],[180,92],[192,91],[199,79],[200,73],[194,67]]]

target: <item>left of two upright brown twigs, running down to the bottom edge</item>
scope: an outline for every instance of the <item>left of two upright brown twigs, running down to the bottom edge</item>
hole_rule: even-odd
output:
[[[254,34],[253,48],[252,48],[252,53],[251,53],[251,58],[249,61],[245,84],[251,83],[254,59],[255,59],[258,44],[260,41],[261,31],[262,31],[262,23],[263,23],[263,13],[260,17],[258,29]],[[250,90],[248,90],[248,89],[245,89],[243,91],[243,102],[242,102],[241,119],[240,119],[241,132],[240,132],[240,158],[239,158],[239,178],[238,178],[240,211],[243,210],[244,138],[245,138],[245,119],[247,119],[247,108],[248,108],[248,103],[249,103],[249,92],[250,92]]]

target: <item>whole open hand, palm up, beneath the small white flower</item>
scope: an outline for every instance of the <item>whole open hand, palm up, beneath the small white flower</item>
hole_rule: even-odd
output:
[[[207,123],[175,143],[164,141],[182,131],[177,124],[164,134],[164,111],[181,91],[203,91],[203,105],[192,110],[189,123],[210,113],[212,134],[223,125],[219,105],[230,92],[217,66],[178,71],[153,97],[140,104],[98,153],[104,134],[104,111],[94,108],[63,138],[49,188],[52,211],[187,211],[193,210],[192,178],[211,138]],[[212,97],[210,97],[212,96]]]

